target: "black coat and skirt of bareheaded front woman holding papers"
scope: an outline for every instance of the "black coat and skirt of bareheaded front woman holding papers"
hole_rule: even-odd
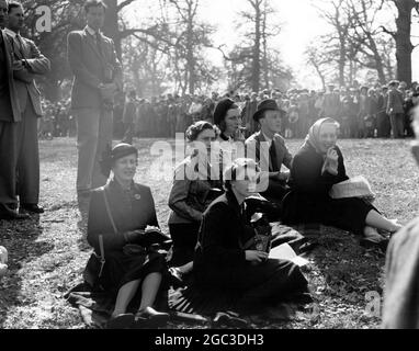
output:
[[[269,259],[251,264],[244,242],[254,236],[233,192],[227,191],[204,213],[194,257],[194,281],[205,292],[236,296],[237,308],[254,307],[271,299],[306,292],[298,267]]]

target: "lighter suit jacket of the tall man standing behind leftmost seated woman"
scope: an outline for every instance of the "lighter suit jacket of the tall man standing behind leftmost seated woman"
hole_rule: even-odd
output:
[[[114,68],[113,82],[122,90],[122,66],[117,59],[113,41],[101,34],[102,55],[95,38],[88,32],[75,31],[67,37],[68,63],[75,75],[71,93],[72,109],[99,109],[102,106],[99,84],[105,83],[105,65]]]

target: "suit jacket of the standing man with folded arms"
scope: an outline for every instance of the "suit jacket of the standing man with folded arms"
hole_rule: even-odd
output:
[[[24,59],[29,66],[27,69],[23,69],[18,75],[14,73],[14,84],[18,91],[20,110],[22,113],[25,111],[30,99],[36,115],[41,117],[43,115],[41,92],[36,87],[34,78],[36,75],[46,75],[50,70],[49,59],[41,54],[33,41],[22,37],[22,47],[20,48],[14,33],[10,34],[10,37],[13,52],[19,59]]]

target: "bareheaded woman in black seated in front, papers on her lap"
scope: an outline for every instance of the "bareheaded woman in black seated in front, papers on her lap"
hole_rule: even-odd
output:
[[[237,159],[226,170],[226,193],[204,213],[193,261],[197,287],[238,294],[235,307],[241,313],[260,312],[262,305],[307,292],[297,265],[247,249],[254,229],[247,222],[244,203],[256,192],[258,177],[252,159]]]

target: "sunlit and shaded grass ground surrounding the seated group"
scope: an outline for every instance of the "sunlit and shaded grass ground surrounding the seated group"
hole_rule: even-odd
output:
[[[137,140],[136,180],[152,190],[158,219],[167,229],[170,162],[157,172],[150,156],[151,139]],[[301,140],[287,141],[294,154]],[[173,145],[173,143],[171,143]],[[407,224],[418,215],[418,171],[403,140],[342,140],[349,176],[365,176],[377,194],[375,205],[389,218]],[[77,309],[63,294],[80,280],[90,254],[84,240],[86,220],[76,191],[76,141],[59,138],[41,143],[39,218],[0,222],[0,245],[9,250],[10,271],[0,281],[1,328],[84,328]],[[86,219],[86,218],[84,218]],[[366,251],[350,235],[330,231],[310,256],[306,270],[316,304],[293,320],[263,324],[264,328],[377,328],[370,298],[382,295],[384,258]],[[313,313],[314,312],[314,313]],[[373,313],[372,313],[373,312]],[[183,326],[171,326],[171,328]]]

